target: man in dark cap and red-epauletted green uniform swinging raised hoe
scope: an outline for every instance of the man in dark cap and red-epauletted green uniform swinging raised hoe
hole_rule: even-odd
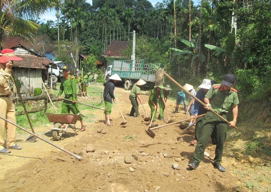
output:
[[[226,114],[231,106],[233,112],[233,120],[230,121],[230,126],[235,126],[238,116],[238,96],[237,90],[233,89],[232,86],[235,82],[235,76],[233,74],[227,74],[224,76],[221,85],[213,85],[207,92],[204,98],[204,103],[207,110],[212,108],[215,112],[220,114],[222,117],[227,119]],[[224,142],[227,136],[227,123],[220,119],[217,115],[208,111],[202,120],[201,135],[199,137],[198,144],[194,151],[193,161],[188,164],[189,167],[196,169],[204,154],[207,142],[211,133],[216,127],[216,142],[217,146],[215,149],[214,157],[214,168],[224,172],[226,169],[220,164],[222,161]]]

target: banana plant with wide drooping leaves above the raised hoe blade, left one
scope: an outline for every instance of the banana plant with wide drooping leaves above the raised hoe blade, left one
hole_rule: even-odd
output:
[[[173,51],[177,51],[176,53],[174,53],[173,55],[192,55],[192,60],[191,60],[191,69],[193,69],[193,75],[196,75],[196,66],[195,66],[195,62],[196,59],[199,57],[199,38],[197,38],[197,40],[193,40],[193,41],[187,41],[184,39],[179,39],[179,41],[181,41],[182,43],[184,43],[185,45],[187,45],[187,49],[191,49],[191,50],[179,50],[176,48],[170,48]],[[206,59],[205,55],[201,53],[201,62],[204,62]]]

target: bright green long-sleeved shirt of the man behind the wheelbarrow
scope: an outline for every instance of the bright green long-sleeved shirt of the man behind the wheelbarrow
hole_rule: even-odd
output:
[[[77,82],[73,75],[69,75],[67,78],[62,78],[57,97],[60,97],[64,91],[65,97],[72,97],[73,101],[77,100],[76,84]]]

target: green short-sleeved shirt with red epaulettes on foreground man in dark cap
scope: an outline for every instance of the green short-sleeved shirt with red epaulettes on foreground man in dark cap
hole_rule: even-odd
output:
[[[215,112],[227,113],[231,105],[239,104],[237,93],[231,89],[225,92],[223,85],[220,85],[219,88],[214,88],[214,86],[218,87],[217,85],[219,86],[219,84],[213,85],[206,93],[205,97],[210,100],[210,106]]]

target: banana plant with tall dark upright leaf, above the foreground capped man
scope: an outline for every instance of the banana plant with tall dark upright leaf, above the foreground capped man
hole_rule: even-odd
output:
[[[217,55],[223,54],[225,56],[224,65],[226,66],[228,64],[228,59],[231,58],[231,54],[235,47],[235,29],[233,28],[232,32],[228,34],[224,49],[209,44],[205,44],[204,46],[208,49],[215,50]]]

